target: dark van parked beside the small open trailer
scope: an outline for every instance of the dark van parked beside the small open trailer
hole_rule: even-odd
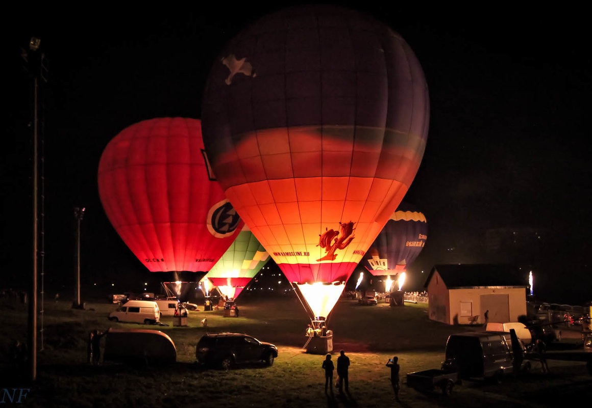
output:
[[[521,352],[522,344],[517,342]],[[518,356],[521,371],[530,371],[530,362]],[[458,371],[461,378],[484,377],[500,380],[514,371],[510,333],[471,332],[453,334],[446,342],[445,367]]]

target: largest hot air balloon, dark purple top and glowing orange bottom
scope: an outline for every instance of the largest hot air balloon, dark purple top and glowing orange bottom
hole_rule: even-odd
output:
[[[202,100],[214,174],[311,316],[328,316],[408,190],[428,119],[409,45],[350,9],[275,12],[214,61]]]

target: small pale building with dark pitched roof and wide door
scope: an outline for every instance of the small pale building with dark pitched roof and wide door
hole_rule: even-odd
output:
[[[435,265],[427,276],[431,320],[446,324],[517,322],[526,315],[526,277],[509,265]]]

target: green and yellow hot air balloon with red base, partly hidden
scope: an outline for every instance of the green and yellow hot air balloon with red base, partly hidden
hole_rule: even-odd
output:
[[[222,295],[230,301],[236,301],[244,287],[268,260],[269,254],[265,248],[255,238],[249,227],[244,226],[206,277],[214,286],[217,286]]]

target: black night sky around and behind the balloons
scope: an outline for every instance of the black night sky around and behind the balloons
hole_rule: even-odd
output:
[[[427,148],[405,198],[429,222],[426,247],[410,268],[416,283],[420,270],[435,263],[496,261],[484,252],[488,229],[532,228],[543,231],[543,244],[520,260],[547,273],[548,282],[569,276],[565,293],[581,287],[574,283],[588,285],[592,78],[584,13],[500,4],[496,9],[348,5],[403,35],[430,89]],[[96,169],[102,149],[140,120],[199,118],[205,80],[223,44],[273,10],[252,2],[166,7],[105,5],[78,17],[60,9],[28,9],[12,21],[5,16],[8,146],[0,179],[7,285],[28,274],[31,263],[28,82],[20,58],[31,35],[41,38],[50,68],[45,121],[50,280],[72,276],[75,205],[87,208],[82,259],[88,279],[147,273],[101,208]],[[499,260],[515,260],[514,255],[500,254]]]

